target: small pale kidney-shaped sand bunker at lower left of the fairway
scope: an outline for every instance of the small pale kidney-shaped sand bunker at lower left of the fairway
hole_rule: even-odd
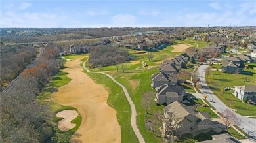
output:
[[[68,131],[75,127],[75,124],[71,123],[71,121],[78,116],[78,113],[75,110],[64,110],[58,112],[56,116],[63,118],[58,122],[58,129],[60,129],[60,131]]]

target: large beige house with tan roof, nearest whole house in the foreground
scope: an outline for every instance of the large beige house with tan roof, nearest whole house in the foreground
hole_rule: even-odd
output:
[[[213,125],[208,112],[196,112],[192,106],[186,106],[179,101],[166,106],[164,116],[173,120],[175,125],[173,134],[177,136],[186,133],[191,133],[192,136],[207,133]],[[163,129],[165,129],[165,123],[163,123]]]

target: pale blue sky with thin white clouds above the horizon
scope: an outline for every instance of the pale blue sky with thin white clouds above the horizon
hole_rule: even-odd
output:
[[[256,25],[256,0],[0,0],[0,27]]]

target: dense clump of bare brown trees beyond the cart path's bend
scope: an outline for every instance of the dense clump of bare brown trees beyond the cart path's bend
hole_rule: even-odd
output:
[[[114,46],[96,46],[90,49],[90,67],[104,67],[129,61],[127,50]]]

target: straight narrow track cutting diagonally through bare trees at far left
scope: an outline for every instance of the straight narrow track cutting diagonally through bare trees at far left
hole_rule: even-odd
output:
[[[33,65],[35,65],[36,61],[39,61],[39,59],[41,58],[43,52],[45,52],[45,48],[41,47],[41,48],[38,48],[39,50],[39,54],[37,54],[37,57],[35,58],[35,60],[33,60],[30,64],[28,64],[26,66],[25,69],[28,69],[28,68],[31,68],[33,67]],[[24,69],[24,70],[25,70]],[[24,71],[23,70],[23,71]],[[20,72],[21,73],[21,72]],[[2,91],[2,93],[5,93],[5,92],[8,92],[13,86],[15,86],[17,83],[18,83],[18,79],[20,78],[20,74],[14,79],[12,80],[7,87],[5,87],[5,89]]]

